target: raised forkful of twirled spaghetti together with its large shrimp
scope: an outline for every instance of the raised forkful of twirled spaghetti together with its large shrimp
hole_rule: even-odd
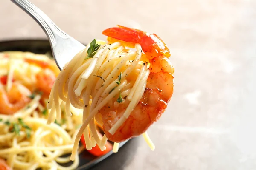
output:
[[[49,96],[48,123],[60,120],[60,102],[66,103],[67,116],[70,105],[83,109],[83,124],[76,135],[71,160],[76,157],[82,135],[87,150],[96,144],[105,150],[110,139],[115,142],[113,152],[117,152],[119,142],[143,133],[154,150],[145,130],[159,119],[172,96],[173,67],[162,40],[155,34],[152,37],[122,26],[103,34],[109,36],[110,42],[90,42],[64,67]],[[162,89],[165,91],[160,93]],[[103,126],[103,137],[97,134],[95,120]]]

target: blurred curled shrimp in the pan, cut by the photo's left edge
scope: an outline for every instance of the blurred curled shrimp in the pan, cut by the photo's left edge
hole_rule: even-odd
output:
[[[13,83],[8,92],[0,88],[0,113],[11,115],[17,112],[29,103],[30,94],[31,92],[25,86],[18,83]]]

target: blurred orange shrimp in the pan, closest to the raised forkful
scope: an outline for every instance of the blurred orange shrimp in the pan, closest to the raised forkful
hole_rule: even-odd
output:
[[[49,97],[55,79],[56,76],[52,70],[49,68],[42,69],[36,74],[36,87],[39,91],[43,92],[44,96]]]

